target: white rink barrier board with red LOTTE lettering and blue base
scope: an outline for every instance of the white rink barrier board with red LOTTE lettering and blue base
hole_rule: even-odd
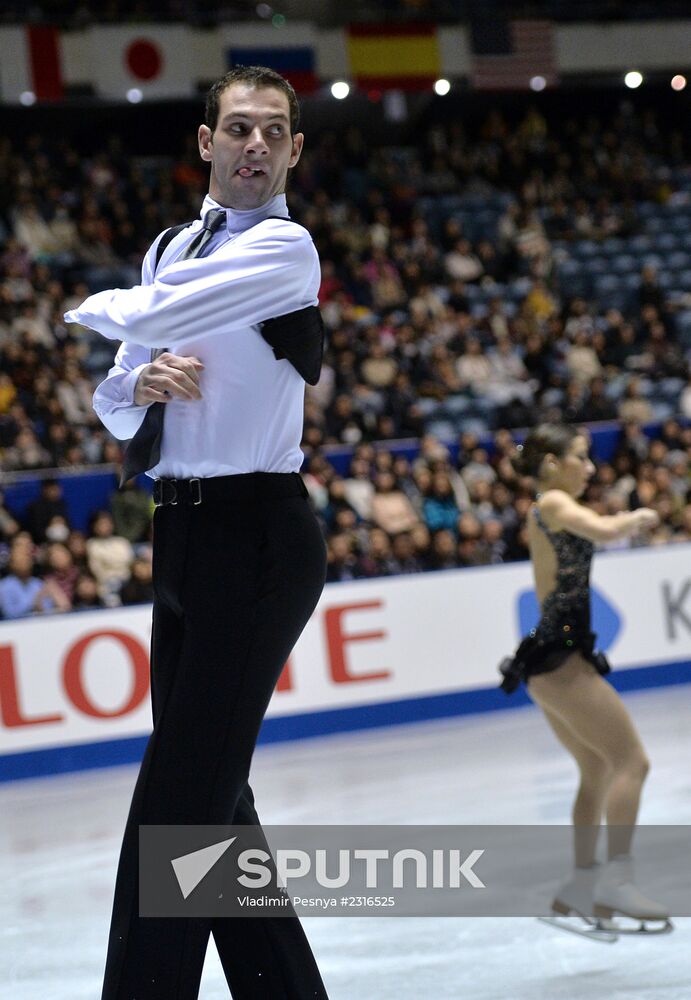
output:
[[[691,544],[606,552],[593,628],[620,690],[691,682]],[[539,615],[528,563],[328,584],[264,743],[517,707],[497,664]],[[0,780],[140,758],[151,606],[0,623]]]

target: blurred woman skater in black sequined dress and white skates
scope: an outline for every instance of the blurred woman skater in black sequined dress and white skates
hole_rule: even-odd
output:
[[[528,521],[540,620],[513,659],[500,669],[502,688],[528,684],[557,739],[574,757],[580,785],[573,806],[575,867],[552,904],[593,924],[617,914],[663,921],[664,907],[633,884],[631,839],[648,761],[617,692],[602,678],[609,665],[594,650],[590,629],[590,563],[595,543],[654,528],[655,511],[600,516],[578,503],[595,467],[589,442],[576,428],[543,424],[532,430],[515,459],[516,470],[537,480]],[[608,862],[595,861],[602,816],[608,825]],[[649,928],[652,930],[653,928]]]

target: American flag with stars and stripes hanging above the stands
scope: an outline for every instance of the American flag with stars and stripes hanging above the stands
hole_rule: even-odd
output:
[[[477,90],[527,90],[536,76],[548,87],[557,82],[551,21],[510,21],[505,32],[490,34],[499,41],[495,47],[487,36],[479,44],[473,37],[471,80]]]

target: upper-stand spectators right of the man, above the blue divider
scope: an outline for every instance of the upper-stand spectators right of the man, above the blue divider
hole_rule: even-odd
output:
[[[653,119],[625,116],[552,135],[530,112],[513,130],[490,115],[472,138],[458,124],[434,126],[420,149],[374,161],[363,152],[360,168],[339,170],[338,148],[330,197],[314,183],[304,211],[324,262],[320,298],[332,330],[322,382],[308,394],[317,403],[307,413],[310,443],[414,436],[438,404],[461,419],[474,404],[489,429],[634,413],[646,421],[662,384],[670,408],[691,413],[677,328],[691,298],[672,301],[661,275],[642,265],[627,301],[608,308],[559,280],[555,250],[640,232],[639,204],[675,194],[679,136],[663,139]],[[440,219],[435,199],[443,204],[458,190],[478,206],[500,191],[505,207],[484,227]]]

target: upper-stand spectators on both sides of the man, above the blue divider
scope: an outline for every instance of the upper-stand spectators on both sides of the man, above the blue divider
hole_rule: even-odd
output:
[[[668,408],[688,417],[677,316],[691,296],[671,301],[644,266],[628,302],[606,308],[570,293],[554,251],[636,233],[641,203],[690,200],[671,180],[686,152],[649,114],[557,125],[535,110],[512,127],[492,113],[468,134],[432,125],[405,148],[371,150],[357,129],[315,139],[291,181],[293,211],[320,252],[329,328],[307,446],[419,436],[440,404],[456,423],[470,406],[480,430],[647,421],[660,385]],[[136,283],[152,237],[198,214],[206,176],[196,147],[141,160],[111,136],[85,157],[33,136],[20,156],[4,140],[0,180],[3,465],[117,460],[89,403],[112,348],[66,329],[62,313],[88,291]],[[503,209],[474,228],[440,218],[451,192],[499,198]]]

